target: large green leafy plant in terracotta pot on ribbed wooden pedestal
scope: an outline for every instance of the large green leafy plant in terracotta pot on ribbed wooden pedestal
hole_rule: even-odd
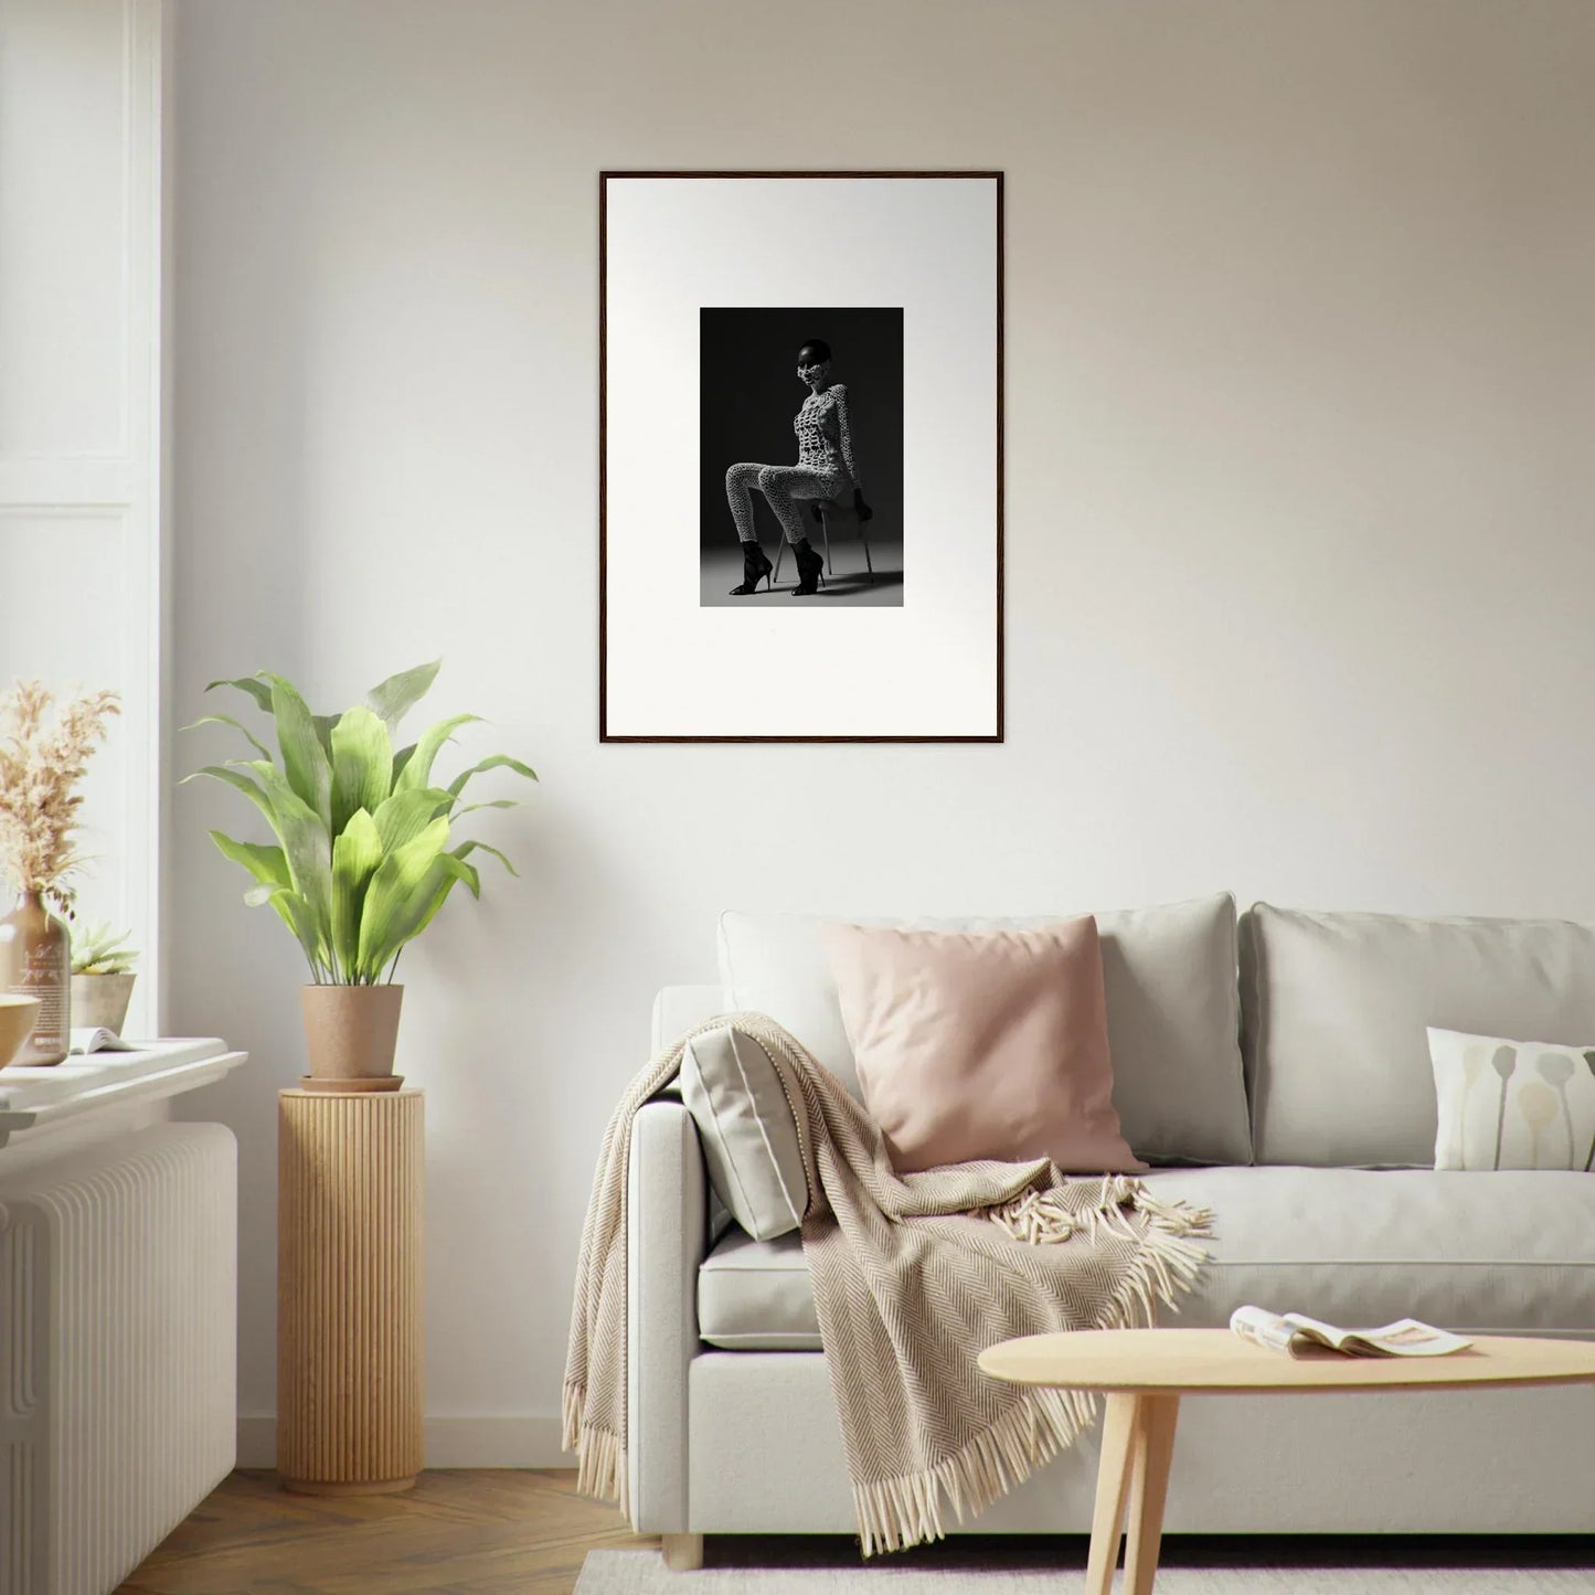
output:
[[[196,726],[241,732],[258,758],[228,759],[195,770],[247,798],[265,817],[274,845],[211,839],[255,885],[244,901],[270,903],[309,963],[303,989],[309,1072],[319,1080],[392,1075],[404,987],[392,984],[404,947],[426,930],[456,882],[480,898],[474,852],[510,861],[478,839],[450,845],[456,820],[477,809],[510,809],[514,799],[463,802],[471,780],[504,769],[536,774],[494,753],[439,785],[434,764],[453,734],[480,715],[453,715],[408,746],[394,750],[394,731],[432,686],[442,660],[418,665],[372,687],[341,715],[313,715],[282,676],[262,670],[206,691],[233,687],[271,718],[278,754],[231,715],[206,715]],[[191,727],[190,727],[191,729]]]

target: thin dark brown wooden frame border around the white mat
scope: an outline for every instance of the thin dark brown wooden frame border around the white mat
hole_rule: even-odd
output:
[[[611,732],[608,726],[608,671],[609,671],[609,552],[608,552],[608,494],[609,494],[609,341],[608,341],[608,282],[609,238],[608,204],[611,179],[973,179],[995,183],[997,198],[997,716],[994,731],[971,735],[632,735]],[[1003,636],[1003,174],[1000,171],[605,171],[598,174],[598,740],[616,743],[633,742],[983,742],[1005,740],[1005,636]]]

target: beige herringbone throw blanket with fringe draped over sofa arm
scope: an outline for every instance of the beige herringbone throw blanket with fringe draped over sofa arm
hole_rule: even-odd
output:
[[[764,1014],[734,1022],[770,1054],[809,1177],[802,1247],[831,1370],[864,1555],[943,1534],[1069,1447],[1096,1410],[1078,1391],[987,1378],[998,1340],[1152,1322],[1206,1262],[1211,1215],[1123,1176],[1064,1180],[1035,1163],[898,1176],[842,1083]],[[699,1034],[692,1030],[691,1035]],[[577,1488],[630,1517],[625,1464],[625,1171],[636,1110],[689,1037],[627,1088],[605,1131],[582,1230],[565,1369]]]

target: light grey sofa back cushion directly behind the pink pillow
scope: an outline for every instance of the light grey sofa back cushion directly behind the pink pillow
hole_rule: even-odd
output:
[[[831,916],[836,917],[836,916]],[[853,924],[912,930],[1013,930],[1024,919]],[[1235,900],[1099,912],[1113,1105],[1124,1139],[1152,1161],[1249,1163],[1236,995]],[[719,920],[727,1003],[770,1014],[861,1097],[825,949],[821,916],[738,914]]]

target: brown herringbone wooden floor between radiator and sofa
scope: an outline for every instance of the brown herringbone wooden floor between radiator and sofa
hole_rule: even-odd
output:
[[[598,1546],[640,1539],[574,1472],[434,1469],[391,1496],[298,1496],[236,1472],[118,1595],[569,1595]]]

